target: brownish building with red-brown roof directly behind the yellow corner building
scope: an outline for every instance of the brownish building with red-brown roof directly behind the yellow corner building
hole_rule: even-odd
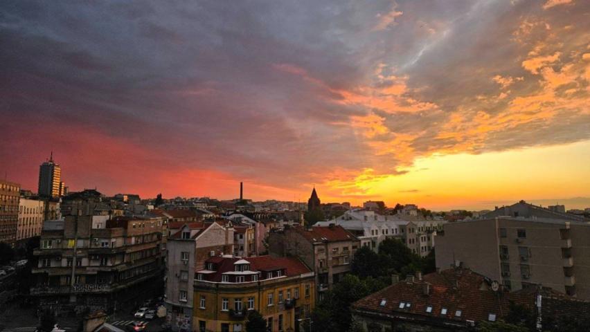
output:
[[[316,274],[318,299],[346,273],[361,241],[338,225],[310,229],[289,227],[269,234],[269,253],[274,257],[299,257]]]

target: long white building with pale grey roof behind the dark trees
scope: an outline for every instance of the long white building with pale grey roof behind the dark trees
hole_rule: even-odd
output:
[[[420,219],[406,214],[383,215],[372,210],[348,210],[330,221],[319,221],[318,226],[340,225],[355,234],[361,246],[375,252],[388,238],[400,239],[417,255],[425,257],[434,247],[436,232],[442,230],[443,220]]]

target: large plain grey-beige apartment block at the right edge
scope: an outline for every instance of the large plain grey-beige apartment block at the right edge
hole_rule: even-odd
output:
[[[512,291],[542,284],[590,299],[590,224],[510,216],[447,223],[436,266],[457,263]]]

